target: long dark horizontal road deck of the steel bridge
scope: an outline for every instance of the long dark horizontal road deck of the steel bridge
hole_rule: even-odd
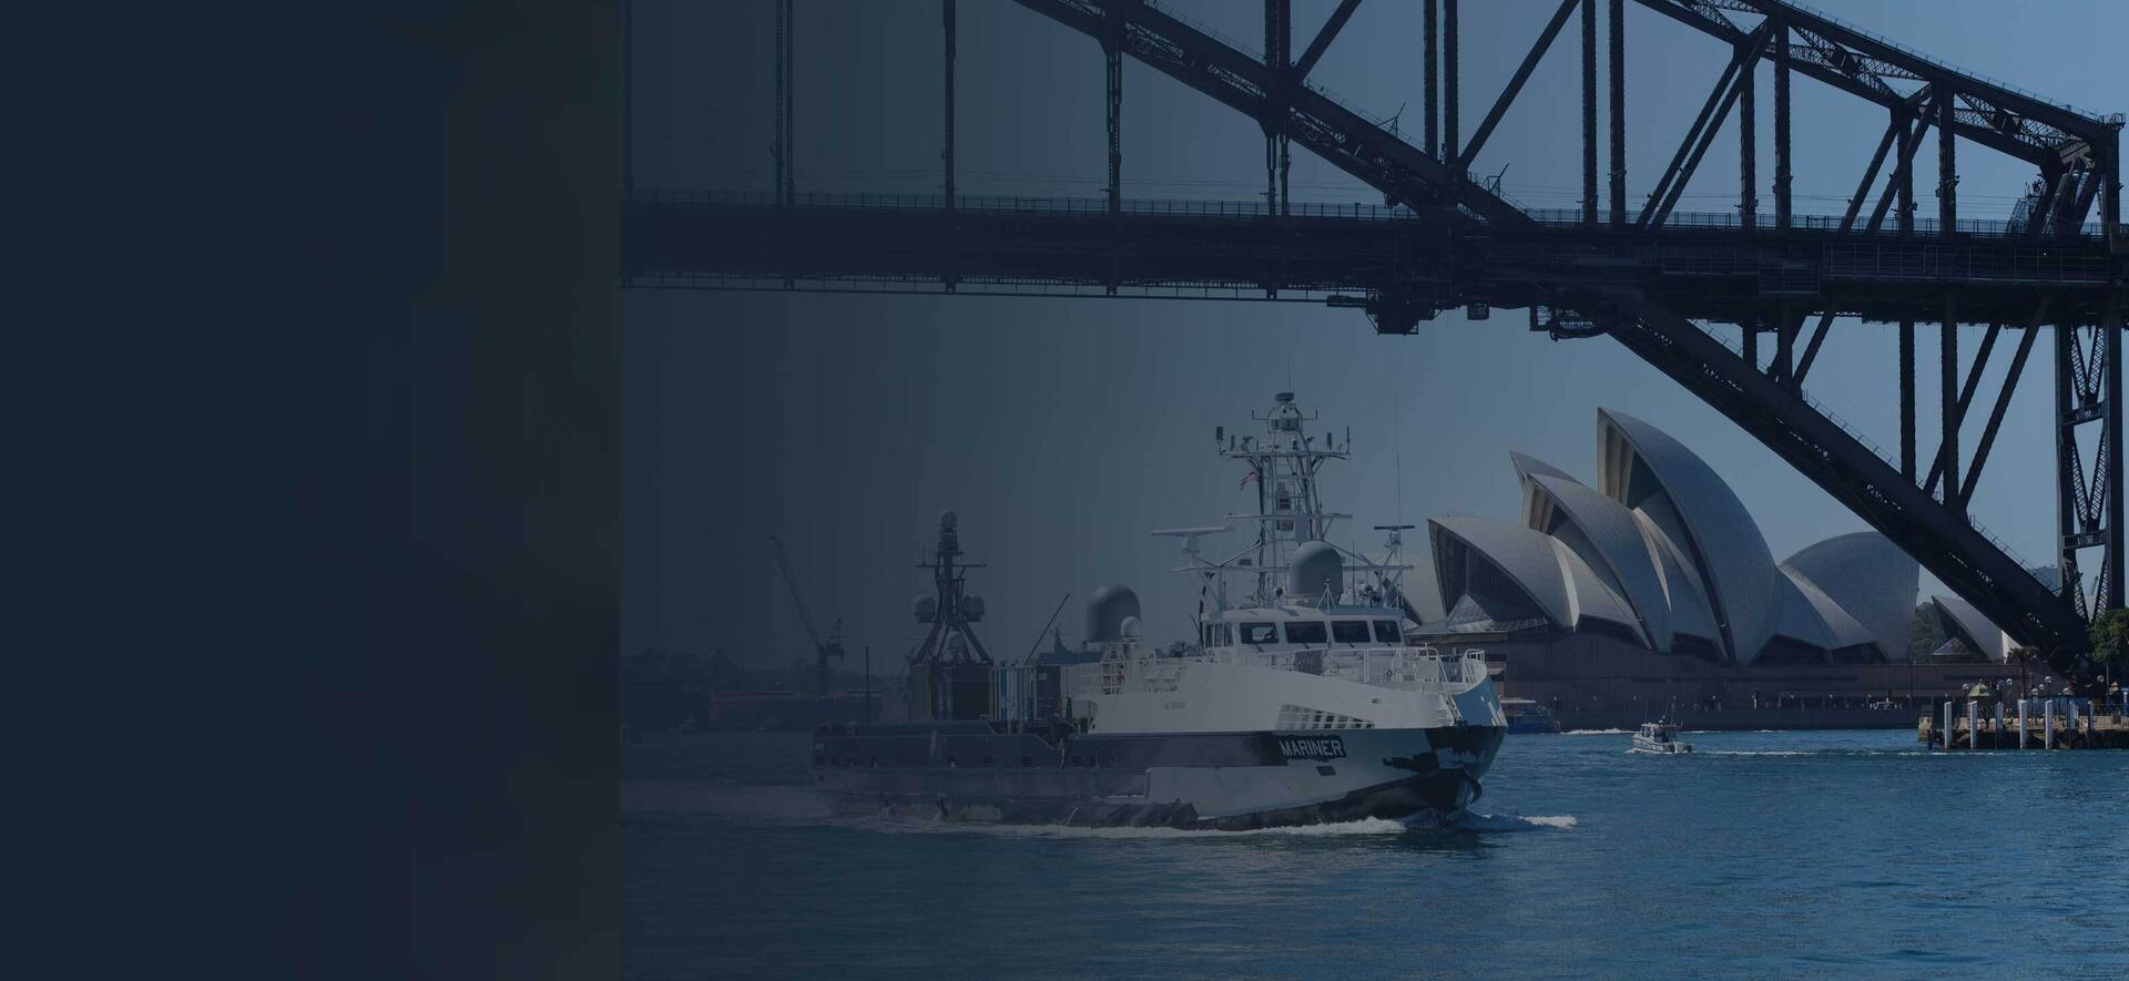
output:
[[[1954,234],[1839,230],[1837,217],[1746,230],[1669,215],[1656,230],[1533,213],[1492,228],[1452,209],[1082,198],[637,194],[626,268],[647,287],[877,289],[1045,296],[1324,300],[1405,289],[1435,309],[1558,302],[1563,287],[1633,285],[1703,319],[1769,302],[1869,319],[2023,323],[2042,292],[2097,317],[2120,277],[2097,226],[2035,240],[2006,221]]]

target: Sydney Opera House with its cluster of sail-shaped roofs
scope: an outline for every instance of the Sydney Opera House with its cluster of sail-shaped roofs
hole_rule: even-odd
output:
[[[1597,479],[1516,453],[1522,521],[1429,521],[1446,617],[1512,696],[1561,711],[1848,706],[2006,677],[2003,632],[1933,598],[1948,641],[1910,655],[1920,566],[1878,532],[1776,562],[1716,472],[1663,430],[1597,413]],[[2014,675],[2014,670],[2012,670]]]

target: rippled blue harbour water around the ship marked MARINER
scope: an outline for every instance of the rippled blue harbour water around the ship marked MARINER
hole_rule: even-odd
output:
[[[805,734],[624,751],[624,970],[2129,977],[2129,753],[1509,736],[1471,830],[832,819]]]

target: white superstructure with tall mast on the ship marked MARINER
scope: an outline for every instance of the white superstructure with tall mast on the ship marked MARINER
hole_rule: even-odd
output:
[[[1201,538],[1231,526],[1154,534],[1184,538],[1184,575],[1199,577],[1188,653],[1137,636],[1105,641],[1099,664],[1064,668],[1062,689],[1090,732],[1248,732],[1505,726],[1482,651],[1437,651],[1405,641],[1409,604],[1399,577],[1403,526],[1382,562],[1335,547],[1318,470],[1346,460],[1343,443],[1307,432],[1314,417],[1280,392],[1256,415],[1262,436],[1216,430],[1220,455],[1248,464],[1258,509],[1228,515],[1256,526],[1250,545],[1207,560]],[[1009,670],[1009,668],[1007,668]]]

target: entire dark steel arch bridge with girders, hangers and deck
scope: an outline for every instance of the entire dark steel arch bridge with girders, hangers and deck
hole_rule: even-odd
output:
[[[624,275],[632,285],[1307,300],[1363,309],[1386,334],[1412,332],[1450,309],[1473,319],[1495,306],[1526,309],[1531,330],[1622,343],[1854,509],[2023,645],[2067,675],[2091,677],[2082,655],[2086,621],[2123,606],[2125,587],[2120,340],[2129,232],[2120,223],[2120,115],[2042,100],[1788,2],[1635,0],[1727,45],[1731,57],[1654,192],[1629,209],[1624,0],[1561,0],[1469,140],[1458,130],[1458,4],[1424,0],[1418,145],[1307,83],[1360,0],[1341,0],[1299,55],[1290,0],[1262,2],[1262,55],[1143,0],[1018,0],[1094,38],[1103,53],[1107,196],[967,198],[954,194],[954,0],[943,0],[947,194],[801,196],[790,179],[790,0],[775,2],[775,196],[630,187]],[[1524,211],[1473,181],[1469,166],[1575,13],[1582,206]],[[1599,40],[1610,49],[1605,85],[1597,77]],[[1262,202],[1124,200],[1126,55],[1262,128]],[[1771,64],[1773,77],[1767,217],[1754,172],[1761,64]],[[1790,202],[1795,74],[1886,111],[1839,217],[1799,217]],[[1601,96],[1610,104],[1607,132],[1599,132]],[[1735,215],[1676,211],[1731,113],[1739,117]],[[1942,174],[1933,189],[1937,215],[1920,219],[1914,160],[1931,136]],[[1294,204],[1294,143],[1382,192],[1384,206]],[[1603,172],[1601,143],[1610,149]],[[2010,221],[1959,217],[1961,145],[2035,168]],[[2097,217],[2097,230],[2086,217]],[[1803,392],[1842,315],[1899,330],[1897,458]],[[1716,323],[1737,326],[1742,343],[1731,347],[1710,330]],[[1925,455],[1916,436],[1914,336],[1927,323],[1940,336],[1942,438]],[[1959,358],[1961,323],[1986,328],[1969,362]],[[2044,330],[2054,340],[2052,581],[1967,517]],[[1980,381],[1999,347],[2010,351],[2006,377],[1984,396]]]

